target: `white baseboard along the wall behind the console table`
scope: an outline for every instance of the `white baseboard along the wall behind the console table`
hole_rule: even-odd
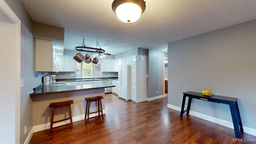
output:
[[[174,105],[171,105],[171,104],[167,104],[167,108],[171,108],[173,110],[177,110],[180,112],[181,110],[181,107],[178,107],[178,106],[174,106]],[[220,124],[222,126],[226,126],[228,128],[232,128],[234,129],[234,126],[233,126],[233,122],[229,122],[229,121],[226,121],[226,120],[222,120],[222,119],[219,119],[219,118],[215,118],[215,117],[212,117],[212,116],[208,116],[206,114],[201,114],[199,112],[194,112],[192,110],[189,111],[189,114],[192,115],[192,116],[196,116],[198,118],[202,118],[204,120],[208,120],[210,122],[214,122],[216,124]],[[253,128],[249,128],[247,126],[243,126],[243,129],[244,129],[244,133],[247,133],[247,134],[251,134],[253,136],[256,136],[256,129],[253,129]]]

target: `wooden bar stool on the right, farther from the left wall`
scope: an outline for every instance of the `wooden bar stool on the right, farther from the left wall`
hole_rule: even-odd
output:
[[[90,98],[84,98],[86,100],[86,110],[85,110],[84,119],[86,120],[86,115],[87,115],[87,125],[89,124],[89,119],[90,119],[89,118],[89,114],[93,114],[93,113],[98,112],[98,116],[94,116],[92,118],[96,118],[96,117],[102,116],[102,120],[104,120],[103,111],[102,111],[102,103],[101,103],[101,99],[102,98],[103,98],[102,96],[95,96],[95,97],[90,97]],[[95,102],[95,101],[98,101],[98,111],[90,113],[90,103],[91,102]],[[88,109],[88,112],[87,112],[87,109]],[[100,115],[100,112],[101,112],[101,115]]]

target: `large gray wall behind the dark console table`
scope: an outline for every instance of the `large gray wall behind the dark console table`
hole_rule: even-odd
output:
[[[256,129],[256,20],[168,44],[168,104],[181,107],[182,92],[238,98],[242,124]],[[192,111],[232,122],[228,105],[192,100]]]

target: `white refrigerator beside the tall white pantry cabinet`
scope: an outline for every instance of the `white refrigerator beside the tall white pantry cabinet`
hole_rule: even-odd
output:
[[[118,66],[118,97],[131,100],[130,95],[130,65]]]

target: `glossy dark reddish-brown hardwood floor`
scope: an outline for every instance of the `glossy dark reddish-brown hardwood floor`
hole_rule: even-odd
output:
[[[33,134],[30,144],[256,144],[256,136],[167,108],[168,97],[150,102],[126,102],[114,94],[105,96],[104,121],[92,118],[70,126]],[[244,142],[242,142],[244,141]],[[245,142],[253,141],[253,142]]]

